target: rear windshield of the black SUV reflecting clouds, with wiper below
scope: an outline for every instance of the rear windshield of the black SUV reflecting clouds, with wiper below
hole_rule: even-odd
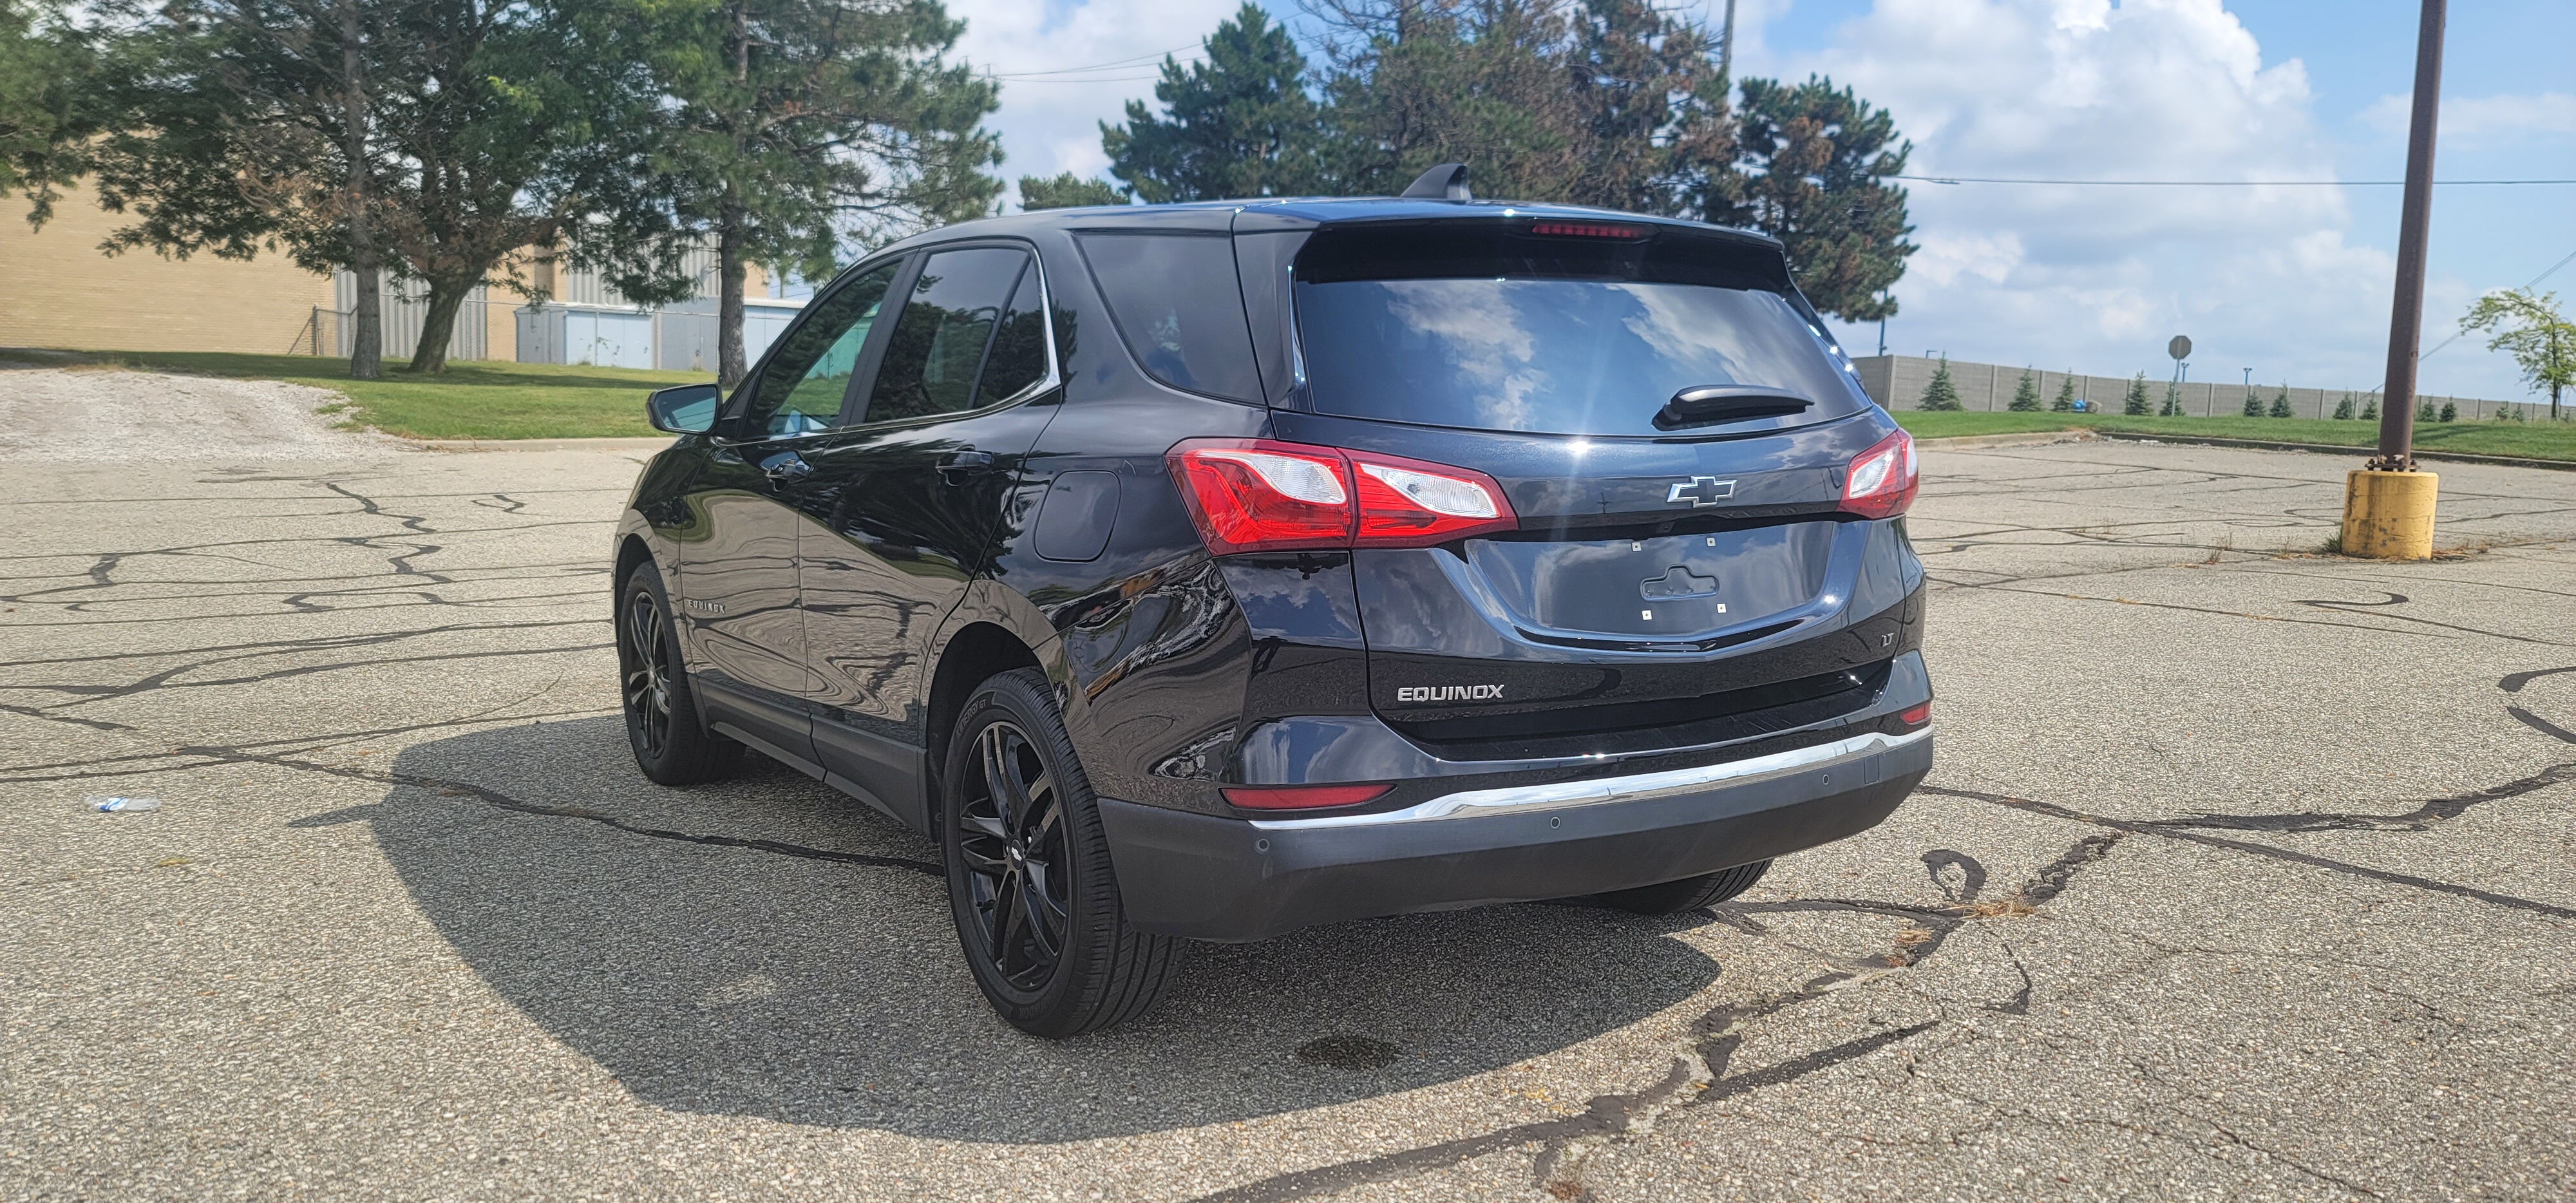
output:
[[[1777,291],[1772,255],[1662,234],[1391,234],[1327,232],[1298,255],[1298,345],[1316,412],[1669,435],[1654,417],[1682,389],[1806,397],[1803,420],[1860,407],[1824,335]]]

